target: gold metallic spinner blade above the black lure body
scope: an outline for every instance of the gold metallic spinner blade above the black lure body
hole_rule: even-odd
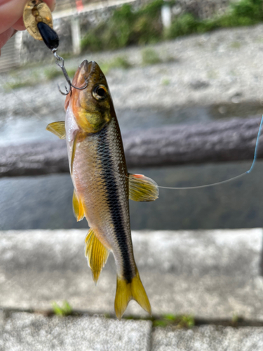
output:
[[[37,40],[43,40],[37,28],[38,22],[44,22],[53,28],[53,18],[50,8],[41,0],[29,0],[27,2],[23,12],[23,20],[27,32]]]

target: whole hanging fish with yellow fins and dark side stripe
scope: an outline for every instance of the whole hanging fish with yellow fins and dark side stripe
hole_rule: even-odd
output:
[[[116,263],[116,317],[130,300],[149,314],[151,305],[133,255],[129,199],[154,201],[159,187],[150,178],[128,173],[123,141],[107,80],[95,61],[84,60],[76,70],[65,100],[65,121],[47,130],[67,141],[69,171],[74,185],[76,220],[84,217],[90,230],[85,254],[95,284],[112,252]]]

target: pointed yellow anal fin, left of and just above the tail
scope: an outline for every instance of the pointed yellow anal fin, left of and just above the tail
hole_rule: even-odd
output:
[[[93,280],[95,284],[97,284],[97,279],[100,277],[100,272],[107,262],[109,251],[104,245],[102,245],[100,240],[97,239],[93,229],[91,228],[86,236],[85,244],[85,256],[88,259],[88,265],[93,274]]]

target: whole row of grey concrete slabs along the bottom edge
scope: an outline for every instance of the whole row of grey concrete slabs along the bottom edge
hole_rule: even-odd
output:
[[[1,351],[262,351],[262,327],[152,329],[150,321],[0,314]]]

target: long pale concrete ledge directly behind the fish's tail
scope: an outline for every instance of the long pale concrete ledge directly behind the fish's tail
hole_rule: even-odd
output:
[[[84,257],[86,230],[0,233],[0,307],[114,314],[112,255],[95,286]],[[135,260],[153,314],[263,320],[262,230],[133,232]],[[131,301],[126,315],[147,314]]]

